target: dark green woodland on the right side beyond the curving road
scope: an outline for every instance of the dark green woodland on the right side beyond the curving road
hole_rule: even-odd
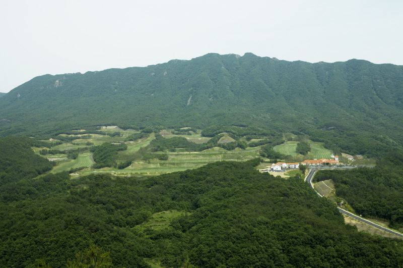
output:
[[[337,196],[344,198],[364,217],[389,221],[389,227],[403,227],[403,153],[389,152],[375,168],[348,171],[320,171],[318,181],[332,179]]]

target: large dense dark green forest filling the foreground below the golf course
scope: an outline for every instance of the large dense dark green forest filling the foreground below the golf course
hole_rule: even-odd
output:
[[[150,267],[147,259],[178,268],[403,265],[402,241],[357,232],[299,178],[259,173],[259,163],[217,162],[146,180],[65,173],[24,182],[21,191],[37,194],[1,192],[0,262],[33,268],[46,257],[61,267],[92,243],[110,252],[114,267]],[[166,228],[143,226],[169,210],[183,215]]]

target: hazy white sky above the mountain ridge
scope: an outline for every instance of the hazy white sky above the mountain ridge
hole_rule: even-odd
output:
[[[0,1],[0,92],[209,52],[403,65],[401,0]]]

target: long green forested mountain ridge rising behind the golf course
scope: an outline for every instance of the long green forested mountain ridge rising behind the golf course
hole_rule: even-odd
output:
[[[402,96],[403,66],[209,53],[144,68],[36,77],[0,99],[0,115],[10,120],[0,135],[106,124],[252,124],[358,130],[401,145]]]

